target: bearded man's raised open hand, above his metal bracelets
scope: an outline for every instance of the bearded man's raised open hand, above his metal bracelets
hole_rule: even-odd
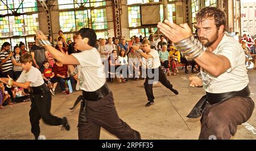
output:
[[[175,23],[171,23],[169,20],[164,20],[164,23],[158,23],[158,28],[160,32],[168,37],[174,43],[177,43],[187,37],[192,35],[191,29],[187,23],[177,25]]]

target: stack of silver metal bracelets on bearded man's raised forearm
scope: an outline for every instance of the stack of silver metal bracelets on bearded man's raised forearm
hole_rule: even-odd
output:
[[[199,57],[206,49],[203,44],[193,36],[174,44],[175,47],[187,58],[187,60],[193,60]]]

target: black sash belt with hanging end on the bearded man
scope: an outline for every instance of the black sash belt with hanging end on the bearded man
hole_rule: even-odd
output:
[[[196,103],[196,105],[192,108],[191,112],[189,112],[187,117],[198,118],[203,114],[204,108],[207,103],[212,105],[235,96],[250,98],[249,86],[247,85],[241,91],[232,91],[228,93],[207,93]]]

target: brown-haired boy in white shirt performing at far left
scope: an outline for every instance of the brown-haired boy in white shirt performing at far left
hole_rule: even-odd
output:
[[[20,57],[23,72],[20,74],[17,81],[12,78],[0,78],[0,81],[6,83],[7,86],[18,86],[27,89],[32,88],[32,100],[30,109],[31,132],[37,140],[40,135],[39,120],[42,118],[49,125],[63,125],[64,129],[69,131],[67,118],[58,118],[53,116],[51,111],[51,93],[44,83],[41,72],[32,66],[33,58],[31,54],[25,53]]]

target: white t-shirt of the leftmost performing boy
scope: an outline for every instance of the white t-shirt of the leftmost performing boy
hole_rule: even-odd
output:
[[[37,87],[44,84],[44,79],[42,77],[41,72],[35,68],[34,66],[31,66],[31,69],[26,73],[26,70],[23,70],[23,72],[20,74],[19,78],[16,82],[31,82],[31,87]]]

